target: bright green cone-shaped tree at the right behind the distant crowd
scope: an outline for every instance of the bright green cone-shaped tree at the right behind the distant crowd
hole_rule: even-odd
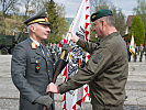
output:
[[[133,19],[130,38],[132,37],[132,34],[134,35],[134,41],[137,46],[139,46],[139,44],[144,44],[145,26],[138,15]]]

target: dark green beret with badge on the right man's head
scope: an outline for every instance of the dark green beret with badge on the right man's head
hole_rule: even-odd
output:
[[[113,15],[112,11],[109,9],[100,9],[96,13],[92,13],[91,15],[91,21],[94,22],[96,20],[108,16],[108,15]]]

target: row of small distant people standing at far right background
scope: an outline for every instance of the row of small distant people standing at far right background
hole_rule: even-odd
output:
[[[141,44],[139,46],[136,45],[135,43],[135,54],[132,54],[130,52],[130,43],[127,43],[127,53],[128,53],[128,62],[132,61],[132,57],[134,59],[134,62],[144,62],[143,57],[145,57],[146,61],[146,48],[144,48],[143,44]]]

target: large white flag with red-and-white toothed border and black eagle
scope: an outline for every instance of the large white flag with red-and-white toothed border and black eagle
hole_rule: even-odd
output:
[[[79,10],[77,12],[77,15],[69,28],[69,31],[74,32],[80,38],[88,41],[89,30],[90,30],[90,3],[89,0],[82,0]],[[67,81],[69,76],[77,74],[83,61],[83,55],[86,55],[86,53],[81,47],[70,42],[69,37],[70,34],[67,33],[67,36],[61,41],[71,46],[71,52],[68,54],[69,62],[61,72],[63,81]],[[86,85],[85,89],[83,87],[81,87],[79,89],[70,90],[64,94],[63,110],[78,110],[81,108],[82,100],[90,101],[88,85]]]

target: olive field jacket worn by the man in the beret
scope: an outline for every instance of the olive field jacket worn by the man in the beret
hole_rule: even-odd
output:
[[[59,92],[63,94],[89,82],[93,108],[123,105],[128,62],[125,42],[119,32],[108,35],[98,44],[82,40],[77,44],[90,53],[90,58],[83,68],[58,86]]]

